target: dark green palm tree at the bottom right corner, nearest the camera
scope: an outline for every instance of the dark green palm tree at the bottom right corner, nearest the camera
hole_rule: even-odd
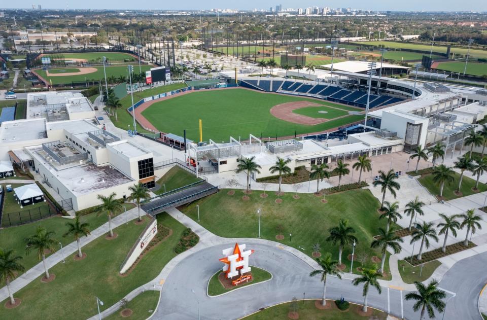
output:
[[[446,294],[444,291],[438,289],[438,281],[433,279],[428,285],[424,285],[419,281],[414,281],[414,286],[416,286],[418,293],[409,292],[404,298],[406,301],[416,300],[412,308],[414,311],[418,311],[421,308],[420,319],[423,319],[425,316],[425,311],[428,311],[430,318],[435,317],[434,309],[438,310],[438,312],[443,312],[445,303],[441,301],[441,299],[444,299]]]

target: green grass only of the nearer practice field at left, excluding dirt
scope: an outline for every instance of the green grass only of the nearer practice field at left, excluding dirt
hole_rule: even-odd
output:
[[[142,66],[142,71],[145,72],[147,70],[150,70],[153,65],[143,65]],[[89,81],[96,81],[96,80],[101,80],[105,79],[105,76],[103,75],[103,67],[97,66],[94,67],[97,69],[96,72],[86,74],[86,75],[75,75],[75,76],[55,76],[55,77],[49,77],[46,73],[46,70],[42,69],[37,69],[36,72],[46,79],[48,82],[52,81],[52,84],[68,84],[70,85],[72,82],[85,82],[85,80]],[[80,68],[54,68],[54,69],[49,69],[49,73],[59,73],[56,70],[64,70],[63,73],[68,73],[68,72],[77,72]],[[105,67],[107,71],[107,77],[114,76],[114,77],[120,77],[120,76],[127,76],[127,66],[107,66]],[[136,68],[138,72],[138,68]]]

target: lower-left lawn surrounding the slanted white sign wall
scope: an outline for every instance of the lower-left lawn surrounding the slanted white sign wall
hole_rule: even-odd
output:
[[[126,276],[120,276],[120,265],[133,243],[146,227],[144,224],[122,224],[115,229],[118,237],[106,240],[97,238],[83,247],[87,258],[75,261],[73,255],[66,257],[66,263],[59,263],[50,269],[56,279],[42,283],[40,277],[15,293],[22,304],[15,309],[0,307],[3,319],[86,319],[96,314],[96,300],[100,298],[104,310],[117,303],[129,292],[154,279],[164,265],[176,256],[174,247],[185,227],[166,214],[157,216],[158,223],[172,229],[172,235],[152,248]]]

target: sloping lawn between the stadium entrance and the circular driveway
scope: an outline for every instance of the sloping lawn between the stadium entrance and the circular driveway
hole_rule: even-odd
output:
[[[336,226],[340,219],[348,219],[359,240],[355,254],[366,252],[369,259],[364,266],[373,266],[370,258],[378,253],[371,250],[370,242],[378,228],[385,227],[386,222],[378,220],[379,202],[369,190],[329,195],[325,197],[328,203],[320,202],[323,197],[314,194],[300,194],[300,199],[293,199],[294,193],[286,193],[281,196],[283,202],[280,204],[275,203],[277,196],[274,192],[267,192],[268,197],[261,198],[263,191],[254,190],[248,201],[242,200],[241,190],[235,190],[233,196],[227,195],[227,192],[228,189],[222,189],[217,194],[195,201],[184,207],[183,212],[196,221],[195,206],[199,205],[200,224],[211,232],[222,237],[256,238],[259,223],[257,209],[262,208],[263,239],[279,241],[275,236],[285,235],[279,242],[293,246],[309,256],[312,254],[312,246],[320,243],[321,253],[331,252],[335,259],[338,258],[338,246],[325,240],[329,235],[328,229]],[[228,228],[236,225],[238,228]],[[344,248],[342,256],[347,271],[350,270],[350,261],[347,259],[349,254],[352,254],[351,246]],[[359,266],[357,263],[355,266]]]

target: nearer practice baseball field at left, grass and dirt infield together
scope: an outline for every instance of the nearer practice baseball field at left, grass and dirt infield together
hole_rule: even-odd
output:
[[[142,65],[142,72],[145,72],[152,68],[153,65]],[[107,66],[107,77],[114,76],[120,77],[127,75],[127,66]],[[105,79],[103,75],[103,67],[66,67],[66,68],[54,68],[48,70],[35,70],[39,76],[43,77],[48,82],[52,81],[52,84],[71,84],[72,82],[85,82],[85,80],[100,80]],[[134,65],[134,71],[138,72],[138,66]]]

